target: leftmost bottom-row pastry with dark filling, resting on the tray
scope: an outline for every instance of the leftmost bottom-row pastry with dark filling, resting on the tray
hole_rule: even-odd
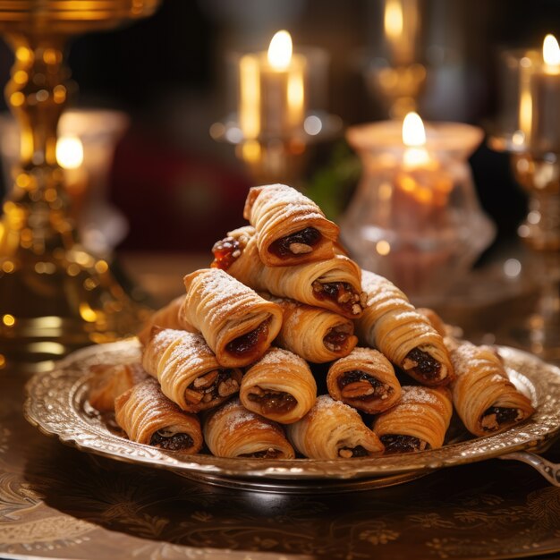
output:
[[[160,449],[199,453],[202,447],[200,421],[182,412],[148,378],[115,401],[115,420],[132,441]]]

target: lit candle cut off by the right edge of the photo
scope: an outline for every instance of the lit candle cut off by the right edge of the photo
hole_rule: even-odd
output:
[[[532,99],[530,144],[539,151],[560,152],[560,47],[547,35],[542,65],[530,76]]]

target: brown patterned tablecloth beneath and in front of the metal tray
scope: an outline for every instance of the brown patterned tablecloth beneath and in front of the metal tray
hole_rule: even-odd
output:
[[[23,419],[0,376],[2,558],[501,558],[560,552],[560,488],[492,460],[335,495],[217,488],[82,453]],[[547,457],[560,460],[560,445]]]

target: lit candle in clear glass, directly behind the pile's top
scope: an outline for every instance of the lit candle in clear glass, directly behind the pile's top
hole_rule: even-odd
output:
[[[289,138],[301,132],[306,112],[306,57],[293,53],[292,38],[278,31],[267,53],[239,61],[238,117],[245,140]]]

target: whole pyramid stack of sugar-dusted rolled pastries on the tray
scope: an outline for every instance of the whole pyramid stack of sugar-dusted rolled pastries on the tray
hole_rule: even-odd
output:
[[[185,293],[140,326],[141,363],[95,372],[90,403],[141,444],[221,457],[337,459],[484,436],[533,412],[493,348],[455,340],[361,270],[301,192],[250,189]]]

